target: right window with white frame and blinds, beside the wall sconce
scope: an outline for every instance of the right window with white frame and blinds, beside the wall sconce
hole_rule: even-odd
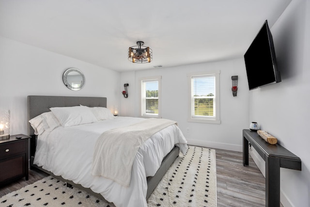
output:
[[[219,73],[199,72],[187,75],[189,86],[189,122],[220,124]]]

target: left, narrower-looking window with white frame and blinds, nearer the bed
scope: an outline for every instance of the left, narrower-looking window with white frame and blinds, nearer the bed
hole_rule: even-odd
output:
[[[140,117],[158,117],[161,76],[140,79]]]

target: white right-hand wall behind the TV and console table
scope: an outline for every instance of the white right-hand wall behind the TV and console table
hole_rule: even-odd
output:
[[[283,206],[310,207],[309,0],[293,0],[271,33],[282,82],[250,91],[249,118],[302,161],[302,171],[281,168]]]

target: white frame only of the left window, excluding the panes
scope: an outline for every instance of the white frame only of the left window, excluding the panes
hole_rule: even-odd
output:
[[[143,81],[157,80],[158,81],[158,115],[143,114]],[[139,117],[141,118],[161,118],[161,76],[144,77],[139,79]]]

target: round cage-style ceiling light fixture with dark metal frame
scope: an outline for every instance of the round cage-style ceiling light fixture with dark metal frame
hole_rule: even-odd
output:
[[[128,60],[133,63],[150,63],[153,60],[153,51],[143,46],[144,42],[138,41],[137,46],[128,49]]]

